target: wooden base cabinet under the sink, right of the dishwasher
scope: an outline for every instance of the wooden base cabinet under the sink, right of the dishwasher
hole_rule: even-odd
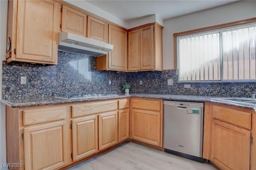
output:
[[[223,133],[227,133],[227,135],[233,135],[233,138],[236,137],[235,134],[240,136],[240,138],[234,139],[234,142],[239,140],[245,142],[243,148],[237,146],[240,150],[239,152],[244,155],[241,155],[241,158],[239,158],[239,161],[242,161],[243,163],[240,162],[236,167],[251,170],[256,169],[256,144],[255,142],[252,142],[253,138],[256,137],[256,112],[250,109],[210,102],[205,102],[204,111],[203,158],[210,160],[212,164],[220,169],[230,169],[228,164],[233,164],[230,163],[230,161],[232,161],[232,156],[235,156],[235,154],[231,154],[229,156],[230,158],[223,160],[226,164],[221,162],[222,160],[220,159],[222,158],[216,158],[215,156],[216,153],[218,153],[217,156],[222,155],[218,151],[219,148],[217,147],[218,145],[216,145],[215,140],[222,140],[222,142],[223,140],[227,140],[227,142],[224,143],[228,143],[230,142],[230,138],[232,138],[229,137],[224,139],[221,136],[219,136],[218,139],[214,138],[215,135],[221,135],[220,133],[216,134],[215,132],[216,128],[218,128],[219,130],[222,129]],[[225,112],[227,114],[225,114]],[[236,119],[234,119],[234,117],[236,117]],[[221,149],[222,152],[230,149],[231,146],[229,146]],[[238,158],[238,156],[236,156],[236,158]],[[238,161],[235,163],[238,163]]]

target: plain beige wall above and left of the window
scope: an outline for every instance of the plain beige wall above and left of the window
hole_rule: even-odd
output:
[[[164,21],[163,69],[174,68],[173,34],[256,17],[256,1],[238,1],[232,4],[195,12]]]

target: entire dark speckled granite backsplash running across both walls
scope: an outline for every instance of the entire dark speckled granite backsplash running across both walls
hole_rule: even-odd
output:
[[[20,76],[27,76],[26,85],[20,85]],[[108,85],[109,79],[112,85]],[[174,85],[167,85],[167,79],[173,79]],[[131,73],[96,71],[96,57],[58,51],[58,65],[3,62],[2,98],[49,96],[54,92],[123,93],[122,84],[126,81],[131,83],[131,93],[220,97],[250,97],[251,93],[256,93],[255,82],[189,83],[191,88],[185,89],[184,84],[188,83],[178,83],[175,70]]]

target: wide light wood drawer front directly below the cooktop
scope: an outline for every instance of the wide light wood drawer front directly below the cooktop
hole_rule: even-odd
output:
[[[90,102],[72,105],[72,117],[117,110],[117,101]]]

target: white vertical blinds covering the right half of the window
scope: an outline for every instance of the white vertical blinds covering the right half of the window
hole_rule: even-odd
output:
[[[256,24],[222,30],[224,80],[256,79]]]

